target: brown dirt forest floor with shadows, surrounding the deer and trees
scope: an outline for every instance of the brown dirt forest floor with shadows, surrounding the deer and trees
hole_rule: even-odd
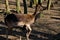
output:
[[[42,12],[43,16],[38,18],[34,24],[31,25],[32,33],[30,35],[30,40],[60,40],[60,1],[54,4],[54,7],[48,12],[44,10]],[[23,2],[21,2],[21,11],[23,13]],[[16,9],[16,1],[9,0],[10,9]],[[29,4],[29,2],[27,2]],[[29,6],[29,5],[28,5]],[[46,6],[46,2],[43,2],[43,6]],[[5,9],[5,0],[0,1],[0,9]],[[1,11],[1,10],[0,10]],[[34,13],[34,8],[28,7],[28,13]],[[0,40],[6,40],[6,28],[4,24],[4,16],[0,12]],[[13,28],[12,34],[9,33],[9,40],[19,40],[19,36],[22,40],[26,40],[25,34],[20,30],[20,28]]]

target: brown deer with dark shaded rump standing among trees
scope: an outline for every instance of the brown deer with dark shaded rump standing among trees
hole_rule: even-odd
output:
[[[4,18],[5,24],[8,30],[12,30],[14,26],[24,27],[26,28],[26,39],[29,40],[29,36],[31,34],[32,28],[31,24],[33,24],[36,20],[36,15],[40,10],[43,10],[40,4],[37,4],[35,7],[35,12],[33,14],[9,14]],[[7,30],[7,31],[8,31]],[[6,32],[7,32],[6,31]],[[7,32],[8,33],[8,32]],[[8,34],[7,34],[8,39]]]

